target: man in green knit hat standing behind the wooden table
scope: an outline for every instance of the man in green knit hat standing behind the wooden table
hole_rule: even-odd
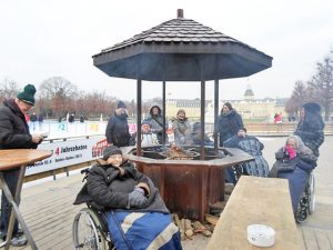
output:
[[[30,111],[34,104],[36,88],[33,84],[27,84],[17,98],[3,101],[0,108],[0,149],[36,149],[42,141],[41,134],[30,134],[24,114]],[[16,156],[13,156],[16,157]],[[3,178],[12,196],[18,183],[20,169],[3,171]],[[4,241],[11,212],[11,204],[8,202],[4,193],[1,196],[1,218],[0,233]],[[27,238],[19,230],[16,220],[11,244],[21,247],[27,244]]]

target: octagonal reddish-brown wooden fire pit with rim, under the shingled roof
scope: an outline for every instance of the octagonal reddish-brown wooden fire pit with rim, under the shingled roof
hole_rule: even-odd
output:
[[[200,147],[183,147],[191,159],[168,159],[167,147],[142,147],[142,157],[137,149],[129,159],[139,171],[149,176],[159,188],[167,207],[179,216],[204,220],[210,203],[224,198],[224,168],[252,160],[240,149],[204,148],[204,160],[200,160]]]

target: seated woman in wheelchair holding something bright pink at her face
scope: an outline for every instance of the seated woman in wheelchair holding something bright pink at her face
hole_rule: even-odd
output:
[[[289,189],[294,213],[301,196],[305,189],[311,171],[316,167],[316,156],[309,149],[297,136],[290,136],[285,146],[275,153],[275,163],[269,177],[285,178],[289,180]]]

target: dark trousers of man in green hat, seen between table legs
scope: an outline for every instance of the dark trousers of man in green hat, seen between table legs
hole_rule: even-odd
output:
[[[20,169],[2,172],[4,181],[7,182],[8,188],[13,197],[14,197],[18,180],[19,180],[19,172],[20,172]],[[11,203],[9,203],[9,201],[7,200],[7,198],[2,191],[1,217],[0,217],[0,232],[1,232],[2,239],[6,239],[6,236],[7,236],[11,208],[12,208]],[[18,221],[16,220],[14,227],[13,227],[13,236],[18,233],[18,229],[19,229],[19,224],[18,224]]]

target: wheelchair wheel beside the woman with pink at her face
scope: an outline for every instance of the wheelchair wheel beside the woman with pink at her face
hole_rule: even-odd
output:
[[[305,222],[307,217],[314,212],[315,196],[314,196],[314,174],[310,173],[305,189],[299,202],[297,211],[295,212],[295,219],[299,223]]]

